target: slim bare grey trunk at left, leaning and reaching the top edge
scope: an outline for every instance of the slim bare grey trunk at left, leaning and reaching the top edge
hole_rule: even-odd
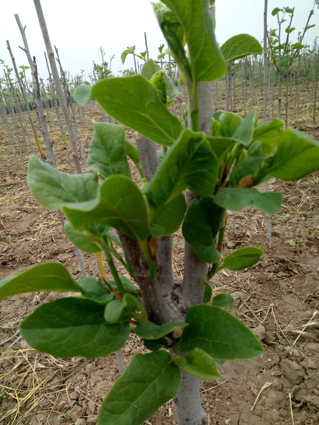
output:
[[[72,158],[73,158],[73,161],[74,161],[75,169],[76,169],[77,173],[82,174],[82,167],[81,167],[81,163],[80,163],[80,158],[79,158],[79,154],[77,152],[77,145],[75,143],[74,128],[73,128],[73,125],[72,125],[70,115],[68,113],[68,107],[66,105],[66,99],[64,98],[59,74],[57,72],[57,65],[56,65],[55,59],[54,59],[54,53],[53,53],[51,41],[50,41],[49,34],[48,34],[48,28],[46,26],[46,20],[44,19],[40,0],[33,0],[33,2],[34,2],[35,9],[37,11],[37,16],[38,16],[39,23],[40,23],[40,28],[41,28],[42,35],[43,35],[44,44],[46,45],[46,52],[48,54],[48,60],[49,60],[50,66],[51,66],[52,77],[53,77],[53,80],[54,80],[55,88],[57,90],[57,96],[59,98],[60,107],[61,107],[61,110],[62,110],[63,115],[64,115],[64,120],[66,122],[66,128],[68,129],[68,137],[69,137],[69,140],[70,140]]]

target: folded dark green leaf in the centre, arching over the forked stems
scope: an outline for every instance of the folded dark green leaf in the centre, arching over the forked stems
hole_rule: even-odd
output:
[[[205,135],[183,130],[144,193],[156,206],[170,202],[188,186],[201,196],[209,196],[216,184],[217,171],[216,155]]]

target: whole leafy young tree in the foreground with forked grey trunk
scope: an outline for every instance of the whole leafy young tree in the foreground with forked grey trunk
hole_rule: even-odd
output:
[[[253,332],[223,309],[233,306],[231,297],[212,298],[208,283],[223,268],[256,264],[265,249],[244,247],[224,257],[227,210],[253,204],[278,212],[282,195],[256,186],[271,176],[296,181],[319,168],[319,143],[284,130],[279,119],[256,125],[255,110],[245,119],[217,111],[207,124],[202,111],[207,96],[199,96],[199,85],[224,75],[226,63],[261,54],[262,46],[240,34],[219,48],[211,1],[163,3],[154,4],[154,11],[188,90],[189,128],[168,111],[178,92],[149,59],[139,75],[103,79],[75,93],[83,104],[94,97],[138,133],[137,150],[125,140],[124,127],[93,123],[87,169],[99,173],[102,185],[95,173],[70,176],[35,157],[28,165],[34,197],[48,209],[63,209],[74,244],[104,252],[113,280],[75,282],[62,264],[43,263],[0,283],[1,298],[40,289],[82,294],[44,303],[23,321],[23,338],[39,351],[95,358],[119,350],[130,332],[142,338],[151,352],[137,354],[115,382],[100,408],[99,425],[141,424],[172,398],[178,425],[206,424],[199,380],[221,377],[218,363],[262,354]],[[156,143],[163,146],[159,162]],[[141,187],[132,181],[127,156],[140,170]],[[181,225],[182,283],[174,280],[171,265],[171,235]],[[135,284],[118,275],[113,258]]]

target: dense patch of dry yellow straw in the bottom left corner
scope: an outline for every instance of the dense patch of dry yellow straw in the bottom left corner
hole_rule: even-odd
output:
[[[3,399],[9,399],[9,406],[6,412],[2,412],[0,423],[6,421],[18,425],[23,420],[31,423],[35,414],[43,412],[48,413],[46,423],[51,414],[70,421],[57,411],[56,405],[71,389],[71,384],[63,382],[77,371],[82,360],[81,357],[56,359],[31,348],[4,351],[0,366],[6,362],[9,370],[0,375],[0,394]],[[44,410],[41,408],[43,402],[46,405]]]

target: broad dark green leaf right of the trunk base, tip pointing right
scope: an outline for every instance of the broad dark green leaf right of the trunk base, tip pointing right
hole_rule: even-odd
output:
[[[253,332],[220,307],[193,306],[185,320],[189,326],[175,345],[178,351],[190,352],[201,348],[220,360],[246,360],[262,354],[262,346]]]

